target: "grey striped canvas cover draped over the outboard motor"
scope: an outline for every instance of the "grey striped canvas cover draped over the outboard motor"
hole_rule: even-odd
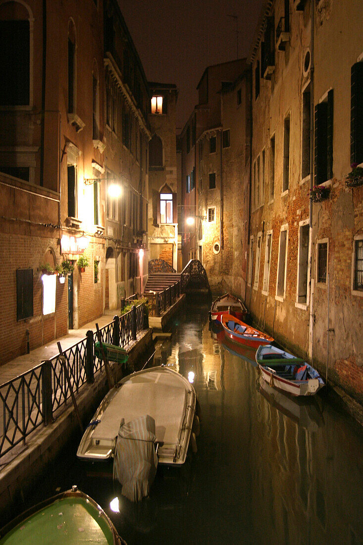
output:
[[[140,416],[124,423],[118,431],[113,460],[113,478],[122,484],[122,495],[130,501],[139,501],[149,494],[158,456],[154,443],[155,420],[149,416]]]

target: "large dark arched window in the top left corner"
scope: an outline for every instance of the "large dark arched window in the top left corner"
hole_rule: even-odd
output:
[[[0,106],[31,105],[31,23],[23,2],[0,2]]]

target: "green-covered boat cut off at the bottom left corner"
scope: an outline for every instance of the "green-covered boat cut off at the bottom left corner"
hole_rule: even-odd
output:
[[[76,486],[35,505],[12,520],[0,530],[0,543],[126,545],[105,511]]]

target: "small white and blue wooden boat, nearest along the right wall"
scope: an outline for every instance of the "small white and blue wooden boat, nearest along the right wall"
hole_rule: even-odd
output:
[[[256,361],[263,379],[271,387],[293,396],[313,396],[325,385],[311,365],[280,348],[271,345],[259,347]]]

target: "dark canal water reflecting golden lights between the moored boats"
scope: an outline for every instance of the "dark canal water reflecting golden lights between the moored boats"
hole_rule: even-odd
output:
[[[323,391],[299,402],[263,384],[254,353],[235,353],[209,330],[207,307],[189,306],[172,334],[154,364],[194,373],[197,454],[180,469],[159,467],[150,497],[131,504],[105,466],[77,461],[78,438],[39,476],[31,501],[77,484],[128,545],[362,543],[361,428]]]

